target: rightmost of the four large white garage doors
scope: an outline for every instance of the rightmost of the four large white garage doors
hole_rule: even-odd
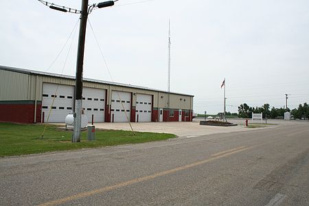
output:
[[[151,122],[152,95],[137,94],[136,122]]]

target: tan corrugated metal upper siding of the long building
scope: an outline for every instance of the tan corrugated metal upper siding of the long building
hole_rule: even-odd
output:
[[[18,84],[16,84],[18,82]],[[0,70],[0,100],[42,100],[43,82],[55,84],[75,85],[75,80],[53,76],[18,73],[14,71]],[[84,82],[83,87],[106,89],[108,91],[107,102],[111,104],[112,91],[126,91],[133,93],[133,106],[136,106],[134,93],[153,95],[155,108],[168,108],[168,93],[150,91],[132,87],[102,84],[99,82]],[[190,95],[170,94],[170,108],[191,109],[193,97]]]

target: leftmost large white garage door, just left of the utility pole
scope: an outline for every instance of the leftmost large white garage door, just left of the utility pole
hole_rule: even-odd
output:
[[[65,122],[65,117],[73,112],[74,87],[58,84],[43,84],[42,117],[45,122]],[[56,97],[54,95],[56,93]],[[54,104],[53,104],[54,101]],[[50,110],[52,108],[52,110]],[[49,115],[49,111],[51,111]],[[49,115],[49,119],[47,120]]]

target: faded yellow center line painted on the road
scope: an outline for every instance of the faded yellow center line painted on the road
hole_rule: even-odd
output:
[[[68,197],[65,197],[65,198],[60,198],[60,199],[55,200],[55,201],[49,201],[47,203],[43,203],[43,204],[41,204],[41,206],[59,205],[59,204],[62,204],[62,203],[67,203],[69,201],[73,201],[73,200],[75,200],[77,198],[85,198],[85,197],[88,197],[88,196],[93,196],[95,194],[102,194],[104,192],[115,190],[115,189],[120,188],[120,187],[126,187],[128,185],[133,185],[133,184],[140,183],[140,182],[143,182],[143,181],[149,181],[149,180],[155,179],[155,178],[157,178],[159,176],[165,176],[165,175],[168,175],[168,174],[179,172],[181,170],[187,170],[189,168],[193,168],[193,167],[196,167],[198,165],[205,164],[205,163],[207,163],[209,161],[214,161],[216,159],[220,159],[222,157],[227,157],[229,155],[233,155],[235,153],[242,152],[244,150],[249,150],[250,148],[253,148],[253,147],[242,146],[240,148],[233,148],[231,150],[225,150],[223,152],[218,152],[218,153],[216,153],[214,155],[211,155],[211,157],[209,159],[204,159],[202,161],[196,161],[196,162],[188,164],[188,165],[184,165],[184,166],[181,166],[181,167],[178,167],[178,168],[173,168],[171,170],[165,170],[163,172],[158,172],[158,173],[155,173],[155,174],[151,174],[149,176],[139,177],[137,179],[132,179],[130,181],[125,181],[125,182],[122,182],[122,183],[118,183],[117,185],[112,185],[112,186],[108,186],[108,187],[102,187],[102,188],[99,188],[99,189],[96,189],[96,190],[91,190],[89,192],[81,192],[81,193],[78,193],[78,194],[74,194],[72,196],[68,196]]]

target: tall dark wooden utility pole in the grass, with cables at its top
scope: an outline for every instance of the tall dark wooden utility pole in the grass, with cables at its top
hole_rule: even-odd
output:
[[[88,7],[88,0],[82,0],[82,10],[74,10],[65,6],[56,5],[47,1],[38,0],[41,3],[49,6],[53,10],[60,12],[71,12],[80,14],[80,34],[78,37],[78,54],[76,62],[76,83],[75,83],[75,95],[73,102],[74,106],[74,127],[72,142],[80,142],[80,126],[82,123],[82,69],[84,65],[84,41],[86,38],[86,27],[88,14],[91,13],[93,8],[105,8],[114,5],[114,1],[104,1],[98,4],[93,4]],[[118,1],[118,0],[115,0]]]

